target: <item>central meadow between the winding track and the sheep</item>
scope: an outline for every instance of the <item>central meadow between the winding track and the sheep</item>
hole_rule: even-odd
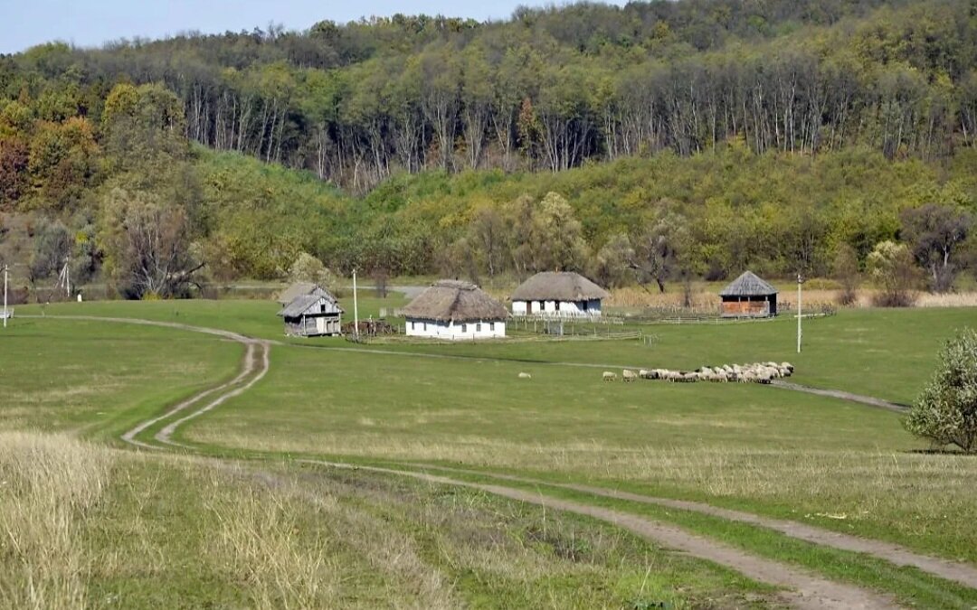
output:
[[[571,367],[520,380],[510,362],[273,358],[262,383],[177,438],[626,486],[977,562],[977,461],[914,453],[894,413],[763,386],[607,384]]]

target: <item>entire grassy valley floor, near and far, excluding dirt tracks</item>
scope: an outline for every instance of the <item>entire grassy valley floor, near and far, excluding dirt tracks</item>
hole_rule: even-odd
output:
[[[403,303],[362,299],[361,317]],[[31,468],[19,462],[21,453],[0,451],[0,481],[13,480],[10,489],[18,492],[13,501],[4,496],[6,504],[0,499],[0,531],[19,531],[21,522],[34,531],[33,508],[25,507],[60,502],[35,494],[41,488],[61,490],[65,509],[75,512],[57,519],[57,532],[44,530],[44,519],[36,525],[36,535],[51,542],[12,548],[0,537],[0,598],[21,594],[31,579],[52,583],[54,596],[44,593],[40,604],[8,597],[23,602],[17,606],[779,603],[770,588],[586,517],[389,475],[302,468],[297,457],[482,472],[465,475],[472,480],[506,472],[586,482],[787,518],[977,565],[977,462],[917,451],[926,444],[903,430],[896,413],[767,386],[601,381],[605,365],[790,360],[798,367],[791,381],[910,402],[941,342],[977,320],[972,308],[844,310],[806,323],[799,356],[786,318],[652,325],[641,329],[653,337],[650,345],[401,339],[357,346],[285,339],[276,305],[255,301],[59,304],[44,311],[45,318],[16,318],[0,336],[0,392],[10,398],[0,405],[0,434],[5,445],[28,447],[31,455],[50,453],[45,460],[54,466],[26,480],[21,470]],[[30,313],[40,308],[18,308]],[[209,459],[137,456],[48,436],[63,431],[121,446],[116,439],[128,427],[233,378],[243,353],[214,336],[57,317],[71,314],[273,340],[271,369],[178,429],[175,440]],[[532,379],[519,379],[520,372]],[[14,431],[23,429],[45,433]],[[142,438],[151,440],[155,429]],[[77,476],[97,493],[43,478],[59,476],[63,458],[55,449],[63,446],[70,462],[88,468]],[[545,485],[529,487],[542,493]],[[977,591],[876,559],[715,517],[599,502],[890,592],[901,603],[977,605]],[[64,566],[41,567],[47,546],[66,557]],[[41,554],[29,554],[35,551]]]

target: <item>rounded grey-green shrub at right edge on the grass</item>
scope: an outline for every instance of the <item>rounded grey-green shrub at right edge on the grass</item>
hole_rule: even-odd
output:
[[[977,453],[977,332],[965,329],[940,353],[940,365],[903,425],[944,447]]]

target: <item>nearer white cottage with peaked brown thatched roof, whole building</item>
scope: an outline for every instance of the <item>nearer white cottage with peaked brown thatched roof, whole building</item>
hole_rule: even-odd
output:
[[[452,279],[432,284],[403,311],[407,336],[449,340],[505,337],[509,317],[481,288]]]

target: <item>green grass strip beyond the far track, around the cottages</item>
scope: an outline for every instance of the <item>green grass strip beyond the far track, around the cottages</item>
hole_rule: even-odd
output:
[[[344,304],[349,307],[349,304]],[[392,310],[404,299],[362,299],[361,318]],[[39,311],[23,306],[24,313]],[[285,339],[275,304],[261,301],[106,302],[55,304],[48,313],[143,317],[221,328],[252,337],[305,346],[347,347],[341,339]],[[388,342],[367,346],[417,353],[499,358],[525,362],[596,363],[645,368],[688,368],[775,360],[797,366],[794,381],[844,389],[904,404],[929,379],[936,351],[956,329],[977,324],[977,308],[842,310],[805,322],[804,348],[796,352],[796,322],[789,317],[760,322],[653,324],[640,327],[640,341],[498,341],[487,344]],[[637,329],[635,325],[625,328]]]

